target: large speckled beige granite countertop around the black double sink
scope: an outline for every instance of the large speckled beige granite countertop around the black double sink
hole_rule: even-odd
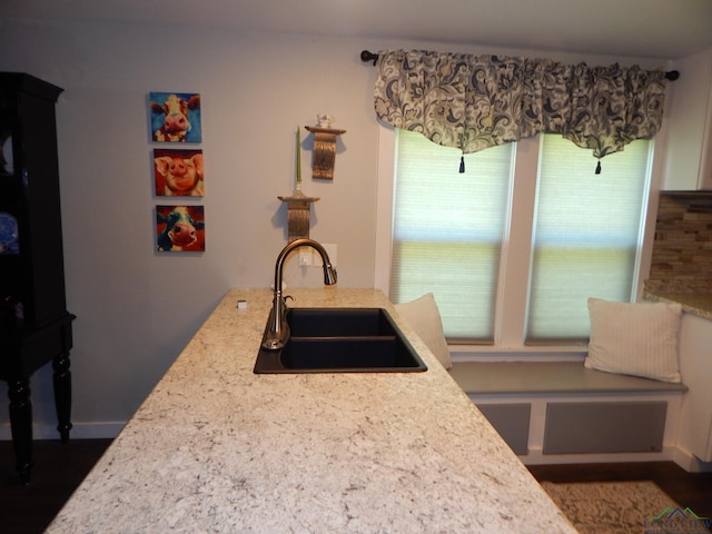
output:
[[[271,294],[233,289],[47,532],[575,532],[382,293],[289,293],[388,309],[428,370],[255,375]]]

